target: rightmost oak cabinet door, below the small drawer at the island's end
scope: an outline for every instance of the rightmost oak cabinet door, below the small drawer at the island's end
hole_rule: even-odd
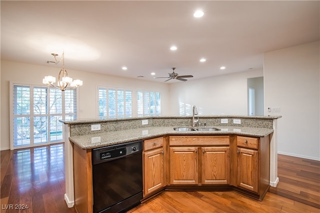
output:
[[[258,193],[258,151],[238,148],[237,152],[238,186]]]

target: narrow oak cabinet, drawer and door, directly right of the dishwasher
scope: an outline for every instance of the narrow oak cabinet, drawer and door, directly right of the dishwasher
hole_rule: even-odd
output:
[[[143,196],[165,186],[163,137],[143,142]]]

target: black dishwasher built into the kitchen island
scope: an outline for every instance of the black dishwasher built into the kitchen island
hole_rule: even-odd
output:
[[[92,150],[93,212],[118,213],[142,200],[142,140]]]

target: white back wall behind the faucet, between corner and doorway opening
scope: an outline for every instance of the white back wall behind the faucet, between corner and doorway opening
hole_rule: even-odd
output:
[[[179,115],[183,103],[204,115],[247,115],[247,78],[262,75],[263,70],[250,70],[170,84],[171,114]]]

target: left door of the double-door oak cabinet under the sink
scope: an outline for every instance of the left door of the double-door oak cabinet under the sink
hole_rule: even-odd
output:
[[[197,147],[170,147],[170,184],[198,184]]]

